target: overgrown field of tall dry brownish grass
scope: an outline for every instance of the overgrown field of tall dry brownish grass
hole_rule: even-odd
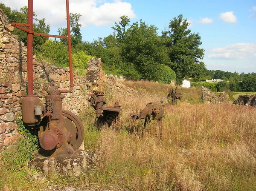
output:
[[[145,81],[125,84],[139,91],[139,96],[103,90],[108,105],[116,101],[122,105],[116,124],[98,129],[90,124],[93,109],[79,114],[85,127],[85,149],[96,153],[93,169],[80,177],[46,174],[45,182],[35,182],[29,174],[38,172],[30,171],[26,161],[15,165],[2,160],[1,165],[5,162],[7,167],[1,170],[0,189],[8,185],[10,191],[61,190],[65,186],[79,191],[255,190],[256,108],[203,104],[200,89],[179,87],[181,102],[166,104],[163,120],[152,121],[142,132],[141,121],[131,119],[130,113],[162,100],[170,86]],[[9,157],[14,154],[9,152]]]

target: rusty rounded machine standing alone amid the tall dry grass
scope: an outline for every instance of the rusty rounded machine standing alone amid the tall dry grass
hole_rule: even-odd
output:
[[[160,121],[164,117],[164,105],[158,102],[150,102],[140,111],[139,114],[131,114],[131,117],[138,120],[144,119],[144,128],[151,120]]]

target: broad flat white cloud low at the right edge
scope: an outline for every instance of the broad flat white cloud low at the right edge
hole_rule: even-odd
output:
[[[245,59],[256,55],[256,43],[237,43],[223,48],[214,48],[208,58]]]

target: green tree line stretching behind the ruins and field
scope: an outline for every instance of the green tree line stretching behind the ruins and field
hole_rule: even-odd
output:
[[[10,22],[27,23],[26,6],[17,11],[0,3],[0,9],[9,17]],[[49,34],[50,26],[45,19],[38,20],[35,13],[34,19],[36,22],[33,30]],[[154,80],[161,83],[175,80],[176,84],[181,84],[183,78],[193,81],[219,78],[229,83],[232,91],[256,91],[245,83],[255,80],[254,74],[239,75],[236,72],[206,69],[201,61],[204,58],[204,49],[200,48],[201,37],[199,33],[192,33],[188,29],[189,23],[182,14],[170,20],[168,30],[162,31],[160,35],[156,26],[148,25],[142,20],[131,23],[127,16],[122,16],[112,26],[112,34],[99,37],[93,42],[82,41],[80,19],[81,14],[70,13],[73,66],[81,71],[81,75],[86,71],[90,57],[100,57],[102,68],[107,74],[123,75],[131,80]],[[67,36],[67,28],[61,27],[58,33]],[[15,29],[14,34],[19,35],[26,45],[24,31]],[[66,39],[34,36],[33,53],[55,65],[68,65]]]

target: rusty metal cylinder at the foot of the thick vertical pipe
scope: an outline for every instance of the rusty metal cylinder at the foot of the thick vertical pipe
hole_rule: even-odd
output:
[[[36,105],[40,105],[40,99],[34,95],[28,95],[22,100],[22,120],[26,125],[34,126],[38,123],[35,117]]]

